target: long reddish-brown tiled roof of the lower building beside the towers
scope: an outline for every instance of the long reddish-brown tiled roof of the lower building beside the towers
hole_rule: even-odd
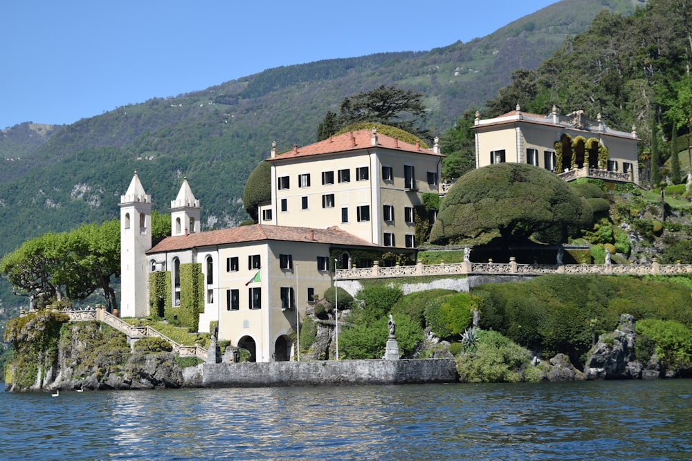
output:
[[[257,241],[289,241],[329,243],[336,245],[354,245],[374,247],[372,243],[358,238],[338,227],[329,229],[312,229],[311,227],[287,227],[253,224],[231,227],[208,232],[199,232],[185,236],[166,237],[156,243],[147,253],[172,252],[189,250],[194,247],[210,245],[228,245],[231,243],[250,243]]]

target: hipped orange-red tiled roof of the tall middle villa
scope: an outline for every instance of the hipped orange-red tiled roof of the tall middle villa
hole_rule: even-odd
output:
[[[295,146],[290,151],[281,153],[275,158],[268,158],[267,160],[284,160],[287,158],[316,156],[325,153],[358,151],[361,149],[374,147],[372,146],[372,142],[370,140],[371,137],[372,130],[349,131],[348,133],[333,136],[320,142],[315,142],[314,144],[308,144],[304,147],[299,148]],[[435,153],[432,151],[432,149],[424,149],[417,144],[409,144],[408,142],[399,141],[396,138],[392,138],[391,136],[384,135],[382,133],[377,133],[376,147],[444,157],[441,153]]]

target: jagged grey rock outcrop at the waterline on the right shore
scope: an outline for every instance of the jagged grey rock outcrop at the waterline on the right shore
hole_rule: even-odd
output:
[[[612,333],[605,333],[592,348],[584,367],[585,379],[639,379],[641,363],[635,359],[635,319],[622,314]]]

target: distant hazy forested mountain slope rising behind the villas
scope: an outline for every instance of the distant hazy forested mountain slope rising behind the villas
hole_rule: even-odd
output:
[[[271,142],[280,151],[313,142],[320,120],[327,110],[336,111],[343,97],[390,84],[419,91],[428,108],[429,135],[446,135],[464,111],[480,109],[498,95],[513,70],[537,69],[565,37],[588,28],[602,8],[629,15],[643,4],[563,0],[468,43],[271,68],[203,91],[46,127],[45,137],[32,134],[37,131],[28,124],[1,131],[0,254],[48,230],[117,216],[134,170],[152,194],[154,209],[167,212],[186,176],[204,209],[203,229],[235,225],[246,218],[244,182],[268,156]],[[570,43],[579,43],[579,37]],[[0,294],[5,306],[24,301],[8,288]]]

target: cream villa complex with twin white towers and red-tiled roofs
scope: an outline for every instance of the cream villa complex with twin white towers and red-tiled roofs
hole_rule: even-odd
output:
[[[135,173],[120,196],[124,317],[156,313],[251,351],[253,361],[295,356],[297,322],[333,285],[337,267],[415,251],[421,194],[439,194],[432,149],[374,129],[278,154],[260,223],[200,232],[200,205],[183,180],[171,202],[172,236],[152,245],[152,199]],[[427,217],[426,217],[427,219]],[[390,260],[391,261],[391,260]]]

